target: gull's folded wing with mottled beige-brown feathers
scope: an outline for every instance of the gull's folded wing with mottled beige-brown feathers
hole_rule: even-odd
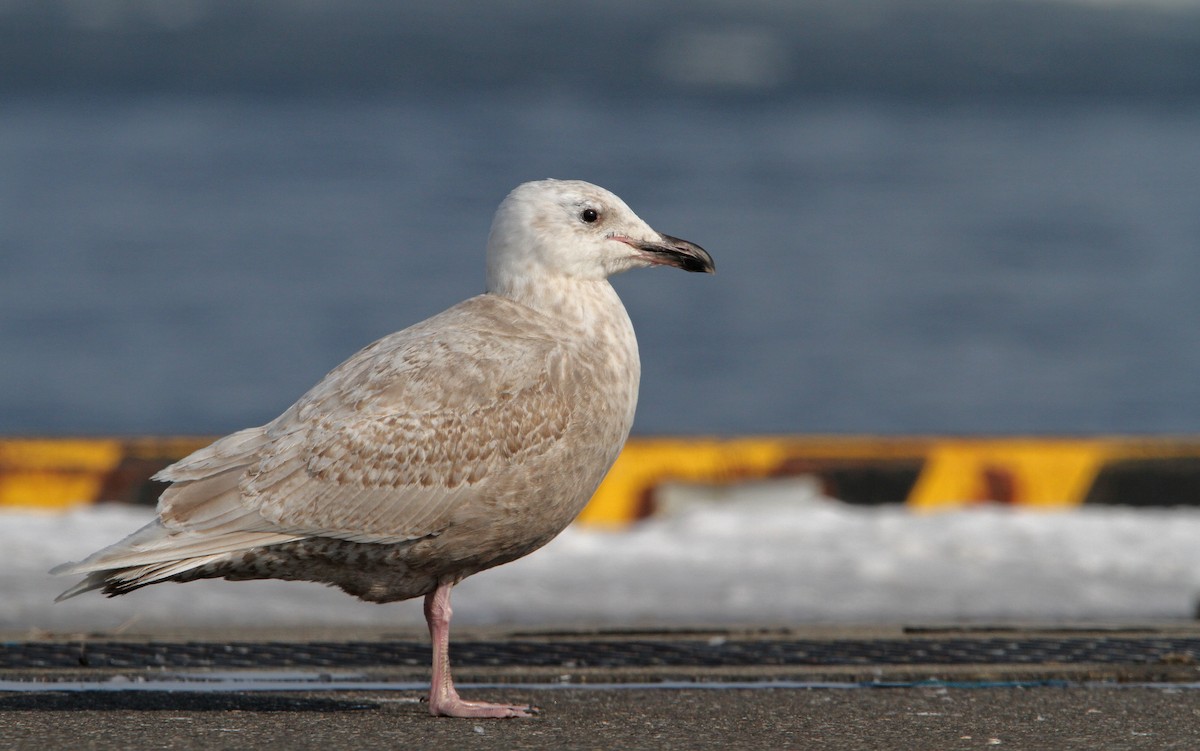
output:
[[[559,332],[515,306],[474,298],[384,337],[274,422],[167,468],[163,523],[398,542],[512,492],[577,407]]]

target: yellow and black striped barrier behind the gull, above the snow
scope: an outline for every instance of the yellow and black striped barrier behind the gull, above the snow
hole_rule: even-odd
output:
[[[149,477],[208,438],[0,439],[0,506],[154,503]],[[654,512],[666,482],[809,475],[848,503],[917,510],[997,501],[1200,504],[1200,437],[634,438],[580,517],[624,524]]]

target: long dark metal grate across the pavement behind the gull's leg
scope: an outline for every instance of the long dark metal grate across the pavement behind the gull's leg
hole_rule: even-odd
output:
[[[463,641],[464,667],[748,667],[870,665],[1168,665],[1200,661],[1200,638]],[[421,642],[17,642],[0,669],[424,667]]]

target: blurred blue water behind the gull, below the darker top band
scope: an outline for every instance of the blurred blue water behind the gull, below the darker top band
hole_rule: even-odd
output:
[[[0,106],[0,433],[270,420],[481,292],[496,204],[544,176],[716,259],[614,281],[636,432],[1200,432],[1200,68],[1177,58],[1140,92],[1076,61],[1074,88],[910,72],[919,96],[752,66],[630,96],[38,68]]]

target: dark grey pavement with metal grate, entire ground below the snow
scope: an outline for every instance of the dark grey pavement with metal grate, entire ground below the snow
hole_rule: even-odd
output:
[[[415,632],[0,636],[0,749],[1200,749],[1192,624],[456,633],[529,720]]]

